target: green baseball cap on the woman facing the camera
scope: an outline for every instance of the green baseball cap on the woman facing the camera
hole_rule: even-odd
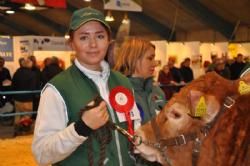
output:
[[[105,21],[105,17],[99,10],[93,9],[91,7],[82,8],[76,10],[70,21],[69,30],[77,30],[81,25],[88,21],[99,21],[110,31],[109,24]]]

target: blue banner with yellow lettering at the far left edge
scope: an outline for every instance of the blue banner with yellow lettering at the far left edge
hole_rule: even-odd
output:
[[[13,40],[10,37],[0,37],[0,56],[5,61],[14,61]]]

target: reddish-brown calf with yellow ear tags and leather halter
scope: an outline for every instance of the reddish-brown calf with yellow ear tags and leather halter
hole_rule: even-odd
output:
[[[193,81],[158,116],[136,131],[143,140],[137,152],[163,165],[249,164],[246,157],[250,141],[249,86],[250,75],[229,81],[208,73]],[[228,103],[229,97],[234,104]]]

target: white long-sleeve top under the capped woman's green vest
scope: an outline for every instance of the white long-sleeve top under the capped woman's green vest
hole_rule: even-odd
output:
[[[111,108],[107,84],[110,74],[108,64],[105,61],[101,63],[102,72],[84,68],[77,60],[75,60],[75,65],[87,77],[93,80],[99,88],[101,97],[106,101],[108,107]],[[133,110],[139,113],[135,105]],[[114,112],[110,111],[110,114],[114,121]],[[53,85],[47,84],[41,94],[32,143],[32,151],[39,165],[50,165],[65,159],[87,139],[77,134],[74,123],[69,126],[67,124],[66,104],[57,89]],[[119,152],[118,133],[115,132],[115,135]],[[122,161],[121,154],[118,156],[120,161]]]

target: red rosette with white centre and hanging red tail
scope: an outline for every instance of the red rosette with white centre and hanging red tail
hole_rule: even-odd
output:
[[[125,114],[128,123],[128,132],[134,135],[132,120],[130,118],[130,110],[134,105],[132,92],[123,86],[117,86],[110,91],[109,101],[115,111]]]

